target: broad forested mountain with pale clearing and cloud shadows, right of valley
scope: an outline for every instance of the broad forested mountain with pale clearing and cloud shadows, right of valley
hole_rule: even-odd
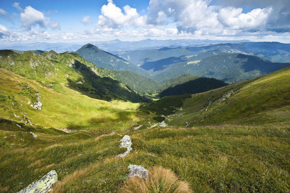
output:
[[[289,63],[270,62],[252,55],[214,55],[192,62],[172,64],[162,71],[155,72],[156,75],[152,78],[156,81],[163,81],[168,77],[190,73],[234,83],[262,76],[289,65]]]

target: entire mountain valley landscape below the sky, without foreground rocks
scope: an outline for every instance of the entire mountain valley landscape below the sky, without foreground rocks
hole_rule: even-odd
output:
[[[157,43],[0,50],[0,191],[55,170],[53,193],[129,192],[130,164],[180,192],[290,191],[289,44]]]

